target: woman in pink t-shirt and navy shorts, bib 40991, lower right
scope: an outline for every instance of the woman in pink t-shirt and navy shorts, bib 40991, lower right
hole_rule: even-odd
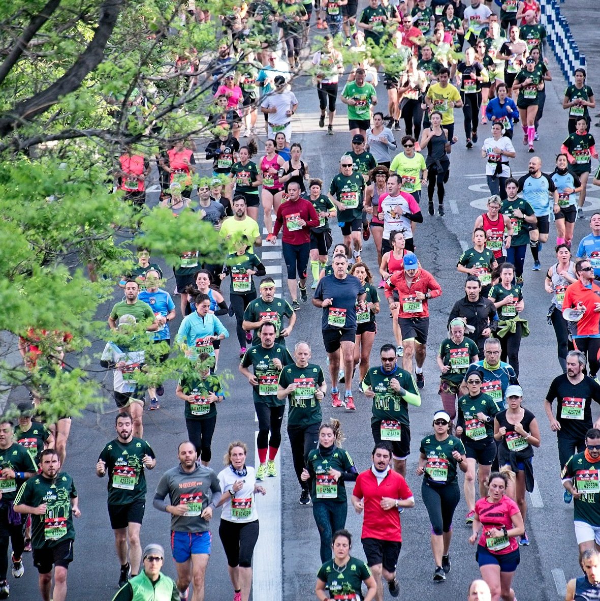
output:
[[[479,537],[475,558],[492,592],[492,601],[500,597],[516,601],[511,584],[520,561],[517,536],[525,532],[525,526],[517,503],[505,494],[507,486],[505,473],[490,474],[488,496],[475,504],[473,534],[468,540],[474,545]]]

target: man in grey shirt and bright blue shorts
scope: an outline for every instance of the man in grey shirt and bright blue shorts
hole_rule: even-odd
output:
[[[208,521],[219,505],[221,489],[214,471],[196,465],[196,447],[189,441],[177,449],[179,465],[167,470],[154,493],[153,505],[171,514],[171,546],[177,567],[177,588],[187,601],[190,582],[201,582],[190,601],[204,600],[204,575],[211,551]],[[165,501],[169,495],[170,503]],[[193,561],[192,561],[193,558]]]

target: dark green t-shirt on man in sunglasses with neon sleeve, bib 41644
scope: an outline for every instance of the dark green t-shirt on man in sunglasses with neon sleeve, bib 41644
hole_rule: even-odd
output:
[[[375,392],[371,409],[371,425],[385,422],[383,424],[385,427],[382,426],[382,429],[389,430],[389,432],[382,432],[381,438],[383,440],[399,441],[402,436],[402,429],[398,427],[398,424],[399,426],[410,427],[410,419],[408,418],[407,401],[390,386],[390,380],[394,378],[398,380],[408,394],[420,398],[413,376],[398,366],[396,366],[395,371],[390,373],[384,373],[381,367],[369,368],[362,382],[362,388],[366,390],[370,386],[372,391]]]

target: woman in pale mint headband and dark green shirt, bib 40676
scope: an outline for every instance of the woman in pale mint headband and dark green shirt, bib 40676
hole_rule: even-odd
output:
[[[448,327],[448,338],[444,338],[437,353],[437,364],[440,368],[441,404],[452,421],[456,417],[456,397],[459,386],[471,363],[479,361],[477,345],[465,337],[465,322],[453,319]],[[458,435],[459,436],[459,435]]]

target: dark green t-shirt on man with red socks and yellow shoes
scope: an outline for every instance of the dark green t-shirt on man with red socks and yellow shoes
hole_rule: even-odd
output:
[[[251,346],[241,359],[242,367],[252,365],[258,386],[252,386],[252,398],[255,403],[264,403],[267,407],[280,407],[285,404],[285,398],[277,398],[279,370],[274,366],[273,359],[279,359],[281,365],[294,362],[288,349],[283,344],[273,344],[273,348],[265,349],[259,343]]]

